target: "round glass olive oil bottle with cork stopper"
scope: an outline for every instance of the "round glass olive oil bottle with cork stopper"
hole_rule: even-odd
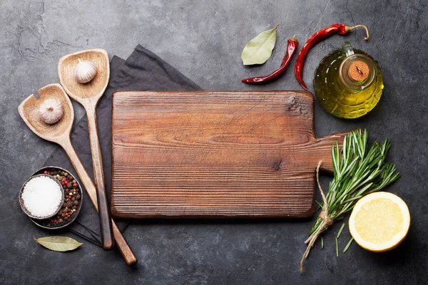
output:
[[[347,41],[332,51],[315,71],[317,100],[332,115],[359,118],[379,102],[384,88],[377,61]]]

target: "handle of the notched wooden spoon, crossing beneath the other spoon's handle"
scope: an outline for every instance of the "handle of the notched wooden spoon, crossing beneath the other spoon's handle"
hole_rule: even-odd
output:
[[[86,192],[91,198],[93,206],[98,211],[98,204],[96,198],[96,188],[93,185],[91,177],[89,177],[88,172],[86,172],[85,167],[83,167],[81,160],[78,158],[76,150],[74,150],[73,145],[71,145],[70,138],[66,137],[63,140],[58,142],[61,147],[66,151],[66,154],[71,160],[71,164],[73,164],[74,169],[76,170],[78,177],[80,177],[83,186],[85,186]],[[118,249],[121,251],[123,258],[125,259],[128,265],[136,264],[137,259],[133,254],[131,247],[129,247],[126,239],[123,237],[122,233],[119,231],[116,223],[111,219],[111,224],[113,225],[113,234],[116,239],[116,244]]]

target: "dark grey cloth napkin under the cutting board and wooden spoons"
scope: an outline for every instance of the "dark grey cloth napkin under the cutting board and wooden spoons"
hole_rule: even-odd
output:
[[[140,45],[135,48],[126,61],[113,56],[110,63],[110,71],[110,81],[106,92],[96,109],[98,135],[103,155],[104,175],[106,177],[106,190],[109,197],[111,192],[111,105],[113,92],[120,90],[202,90],[175,68],[156,56],[156,54]],[[74,123],[71,132],[71,143],[93,180],[91,147],[89,145],[86,116]],[[48,160],[46,160],[45,165],[63,167],[71,171],[75,177],[78,177],[73,165],[71,165],[70,160],[68,160],[66,153],[61,147],[58,147],[52,153]],[[67,229],[101,246],[98,213],[88,195],[86,195],[86,192],[83,192],[83,195],[81,212],[76,221],[67,227]],[[116,224],[123,231],[126,229],[128,221],[118,220]]]

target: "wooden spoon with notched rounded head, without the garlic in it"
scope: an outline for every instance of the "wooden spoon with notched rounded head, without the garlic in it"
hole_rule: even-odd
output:
[[[89,177],[88,172],[86,172],[83,167],[82,162],[78,158],[70,141],[70,132],[74,119],[73,105],[71,105],[70,98],[68,98],[66,92],[59,84],[51,84],[41,88],[39,90],[39,97],[40,98],[36,98],[33,94],[29,95],[29,97],[19,105],[19,115],[21,115],[21,118],[24,120],[26,125],[28,125],[29,128],[40,138],[49,140],[50,142],[56,142],[58,145],[63,147],[76,169],[78,176],[81,178],[93,205],[98,211],[95,185],[93,185],[91,177]],[[58,121],[58,123],[54,123],[53,125],[44,123],[39,115],[39,107],[41,103],[48,98],[59,100],[63,107],[63,117]],[[125,258],[126,263],[129,265],[135,264],[137,259],[131,248],[126,243],[125,238],[113,220],[111,220],[111,224],[113,225],[113,234],[116,239],[116,244]]]

